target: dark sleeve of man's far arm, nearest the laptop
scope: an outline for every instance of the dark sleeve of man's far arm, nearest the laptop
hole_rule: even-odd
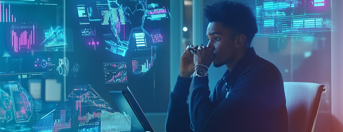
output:
[[[193,132],[187,103],[191,82],[192,78],[177,77],[175,87],[169,94],[166,132]]]

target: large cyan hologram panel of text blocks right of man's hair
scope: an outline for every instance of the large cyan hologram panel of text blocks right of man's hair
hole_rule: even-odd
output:
[[[305,37],[331,31],[330,0],[256,0],[258,37]]]

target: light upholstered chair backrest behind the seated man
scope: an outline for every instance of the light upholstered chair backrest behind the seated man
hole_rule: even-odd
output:
[[[309,82],[284,82],[284,89],[288,132],[313,132],[325,86]]]

